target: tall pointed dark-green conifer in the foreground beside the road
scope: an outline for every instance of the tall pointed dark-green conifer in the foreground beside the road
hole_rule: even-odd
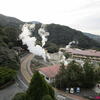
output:
[[[41,100],[45,95],[54,97],[53,89],[39,72],[35,72],[27,90],[27,96],[29,100]]]

